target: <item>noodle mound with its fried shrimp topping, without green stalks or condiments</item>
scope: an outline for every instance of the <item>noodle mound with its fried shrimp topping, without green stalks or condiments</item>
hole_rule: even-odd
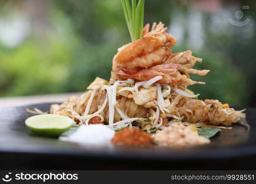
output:
[[[193,66],[201,58],[187,50],[172,53],[176,38],[166,33],[163,23],[145,25],[143,37],[118,48],[112,61],[109,82],[97,77],[80,96],[53,104],[50,113],[65,115],[78,125],[104,124],[112,129],[126,127],[157,131],[175,122],[231,125],[245,117],[218,100],[197,99],[187,89],[204,84],[190,74],[206,75],[209,70]]]

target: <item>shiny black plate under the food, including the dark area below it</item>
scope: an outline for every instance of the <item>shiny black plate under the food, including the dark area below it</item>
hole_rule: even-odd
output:
[[[37,137],[24,125],[26,108],[48,110],[50,104],[0,109],[0,169],[255,169],[256,109],[245,120],[222,130],[212,143],[173,150],[162,147],[86,147]],[[241,109],[241,108],[236,108]]]

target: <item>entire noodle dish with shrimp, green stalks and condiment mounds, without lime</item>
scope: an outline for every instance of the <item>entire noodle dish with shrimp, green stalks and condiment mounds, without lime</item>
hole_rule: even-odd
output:
[[[163,23],[142,28],[144,1],[133,3],[122,1],[133,42],[118,48],[109,82],[96,77],[85,93],[50,107],[50,113],[80,126],[71,135],[76,139],[69,140],[106,143],[99,137],[107,137],[117,145],[190,147],[208,144],[220,129],[231,129],[245,118],[244,110],[198,99],[199,94],[188,90],[190,85],[204,84],[190,79],[190,74],[203,76],[209,70],[193,69],[202,59],[190,50],[171,52],[176,38]]]

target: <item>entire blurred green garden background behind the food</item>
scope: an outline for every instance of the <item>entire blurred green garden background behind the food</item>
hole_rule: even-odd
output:
[[[235,26],[237,23],[249,22]],[[173,52],[192,50],[210,69],[190,89],[201,98],[256,106],[256,2],[145,0],[145,21],[163,21]],[[119,0],[0,0],[0,97],[84,91],[109,79],[130,42]]]

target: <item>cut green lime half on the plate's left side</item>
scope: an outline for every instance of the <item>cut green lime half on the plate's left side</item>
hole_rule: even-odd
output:
[[[71,118],[56,114],[36,115],[26,119],[25,125],[39,136],[58,137],[68,131],[74,121]]]

